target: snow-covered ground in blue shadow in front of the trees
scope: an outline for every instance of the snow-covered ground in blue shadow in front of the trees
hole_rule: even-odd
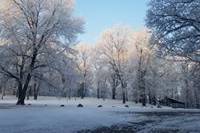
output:
[[[94,98],[39,97],[37,101],[26,101],[26,106],[15,103],[13,97],[0,100],[0,133],[103,132],[104,128],[95,129],[113,125],[131,128],[126,132],[200,133],[200,110],[157,109],[131,102],[127,108],[121,101]],[[84,107],[78,108],[79,103]],[[65,106],[60,107],[62,104]],[[103,107],[98,108],[98,105]],[[111,132],[110,129],[105,131]]]

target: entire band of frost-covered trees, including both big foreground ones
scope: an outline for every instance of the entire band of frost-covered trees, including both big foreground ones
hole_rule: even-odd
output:
[[[2,98],[12,92],[23,105],[39,94],[89,96],[146,106],[169,97],[200,107],[198,0],[151,0],[147,28],[115,25],[94,44],[77,41],[84,22],[71,0],[1,3]]]

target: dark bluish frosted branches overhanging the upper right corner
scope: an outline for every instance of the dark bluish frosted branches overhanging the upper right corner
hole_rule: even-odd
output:
[[[200,1],[151,0],[147,26],[161,54],[200,61]]]

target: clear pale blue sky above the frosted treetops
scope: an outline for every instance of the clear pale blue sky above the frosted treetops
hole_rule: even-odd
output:
[[[94,43],[101,32],[117,24],[142,29],[147,3],[148,0],[76,0],[75,14],[86,22],[79,41]]]

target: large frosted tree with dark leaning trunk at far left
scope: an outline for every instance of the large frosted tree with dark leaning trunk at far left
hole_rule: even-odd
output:
[[[72,16],[71,0],[2,0],[0,10],[1,73],[18,83],[17,104],[24,104],[33,74],[47,67],[51,54],[67,51],[82,32],[83,22]]]

